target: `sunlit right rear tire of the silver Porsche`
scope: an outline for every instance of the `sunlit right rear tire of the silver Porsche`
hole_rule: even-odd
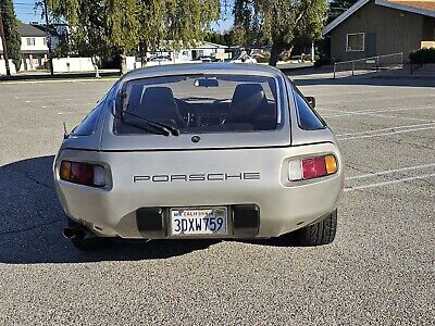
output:
[[[334,241],[337,230],[337,210],[332,212],[321,222],[306,226],[295,231],[296,241],[299,246],[323,246]]]

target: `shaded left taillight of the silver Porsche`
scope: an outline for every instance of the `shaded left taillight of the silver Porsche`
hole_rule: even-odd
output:
[[[100,165],[62,161],[59,174],[60,178],[65,181],[85,186],[102,187],[104,186],[104,180],[101,180],[101,170],[103,170],[103,167]],[[97,175],[95,175],[95,172],[98,172]]]

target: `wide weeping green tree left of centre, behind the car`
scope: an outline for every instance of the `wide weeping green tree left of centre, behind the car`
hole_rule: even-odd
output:
[[[219,0],[47,0],[54,17],[71,27],[73,48],[79,54],[103,55],[115,51],[125,58],[169,45],[172,50],[202,40],[219,18]]]

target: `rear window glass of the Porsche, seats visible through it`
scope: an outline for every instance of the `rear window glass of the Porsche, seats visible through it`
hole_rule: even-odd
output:
[[[243,75],[164,76],[128,82],[117,97],[114,133],[151,134],[151,123],[181,134],[274,130],[276,82]]]

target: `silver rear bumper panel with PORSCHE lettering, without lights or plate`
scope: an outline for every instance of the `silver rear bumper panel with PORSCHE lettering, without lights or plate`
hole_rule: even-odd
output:
[[[289,159],[330,153],[335,154],[339,162],[335,175],[310,181],[288,181]],[[62,181],[59,179],[59,164],[62,160],[103,163],[112,180],[103,189]],[[136,178],[162,176],[167,171],[172,175],[207,172],[214,176],[221,176],[222,173],[237,176],[246,172],[259,173],[261,177],[191,183],[164,181],[164,177],[157,178],[157,181],[148,178],[137,181]],[[331,142],[294,148],[197,152],[63,150],[54,162],[54,180],[66,215],[85,224],[99,236],[167,238],[170,208],[225,205],[228,208],[228,229],[227,235],[221,238],[269,238],[312,224],[336,210],[343,195],[344,171],[339,149]],[[244,204],[259,208],[259,226],[256,228],[248,221],[249,231],[237,229],[234,217],[234,209]],[[162,211],[161,229],[158,226],[154,229],[144,229],[137,216],[144,209],[153,208]]]

